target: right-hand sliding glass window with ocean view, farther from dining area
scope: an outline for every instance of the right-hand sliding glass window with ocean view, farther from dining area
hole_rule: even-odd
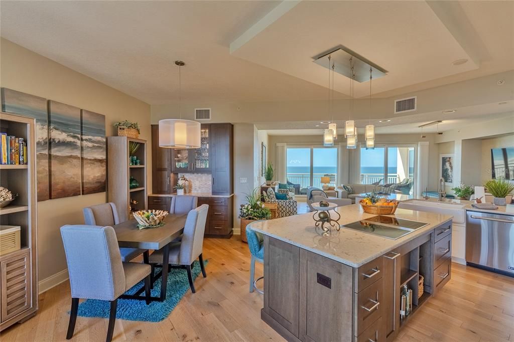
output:
[[[414,146],[383,146],[360,149],[361,184],[397,184],[396,192],[413,194]],[[400,184],[401,183],[401,184]]]

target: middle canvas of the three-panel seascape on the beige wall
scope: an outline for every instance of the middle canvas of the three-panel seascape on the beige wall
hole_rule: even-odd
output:
[[[80,108],[48,101],[50,199],[81,194]]]

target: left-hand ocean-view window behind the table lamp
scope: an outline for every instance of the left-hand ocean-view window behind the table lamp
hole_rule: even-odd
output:
[[[337,147],[288,147],[287,180],[307,186],[322,187],[321,177],[329,177],[328,185],[337,184]]]

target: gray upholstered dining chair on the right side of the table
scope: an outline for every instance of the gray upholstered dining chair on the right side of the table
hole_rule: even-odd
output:
[[[188,213],[182,240],[170,242],[170,264],[168,268],[162,265],[162,251],[155,251],[150,255],[150,263],[161,264],[162,272],[169,272],[171,268],[185,268],[188,272],[189,286],[193,293],[196,290],[194,288],[191,268],[194,266],[197,258],[200,262],[201,274],[203,274],[204,278],[207,277],[202,249],[208,211],[209,205],[202,204]]]

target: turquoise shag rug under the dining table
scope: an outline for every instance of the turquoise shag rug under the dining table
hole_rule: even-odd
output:
[[[208,261],[204,260],[207,266]],[[160,269],[156,269],[155,273]],[[200,263],[195,261],[192,269],[193,281],[200,274]],[[160,296],[162,278],[159,277],[154,283],[154,288],[151,291],[152,297]],[[144,285],[144,281],[137,283],[132,289],[125,292],[125,294],[134,294],[138,289]],[[163,302],[152,301],[150,305],[146,305],[144,300],[137,299],[118,299],[116,310],[117,319],[135,320],[135,321],[148,321],[160,322],[170,315],[170,312],[175,309],[178,302],[190,290],[188,274],[186,270],[172,269],[168,273],[168,287],[166,289],[166,300]],[[198,289],[196,289],[198,291]],[[144,296],[144,293],[141,294]],[[79,305],[79,316],[82,317],[103,317],[109,318],[108,300],[87,299]]]

